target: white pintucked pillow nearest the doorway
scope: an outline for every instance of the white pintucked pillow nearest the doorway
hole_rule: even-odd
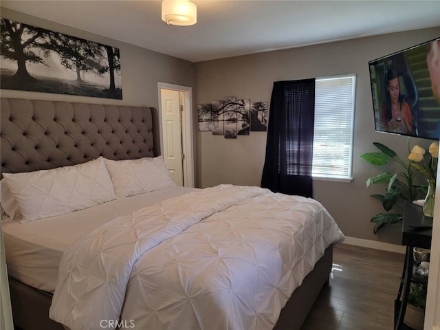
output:
[[[175,186],[162,156],[104,162],[118,199]]]

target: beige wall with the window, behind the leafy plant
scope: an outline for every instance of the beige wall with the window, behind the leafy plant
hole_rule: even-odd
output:
[[[356,74],[353,181],[315,180],[314,197],[329,210],[347,236],[399,245],[399,225],[386,228],[376,237],[369,222],[374,214],[382,212],[380,203],[369,195],[384,192],[384,187],[365,188],[366,179],[380,172],[358,156],[375,151],[372,142],[376,141],[394,148],[402,157],[406,157],[407,148],[406,137],[374,131],[368,63],[439,35],[440,27],[437,27],[197,63],[196,103],[225,96],[270,102],[272,84],[277,80]],[[199,186],[220,183],[259,186],[265,142],[266,133],[261,132],[251,132],[236,140],[197,132]]]

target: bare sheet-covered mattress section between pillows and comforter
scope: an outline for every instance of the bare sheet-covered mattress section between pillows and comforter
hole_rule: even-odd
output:
[[[38,221],[5,221],[1,225],[8,273],[27,285],[54,292],[61,257],[78,239],[115,217],[192,190],[172,186]]]

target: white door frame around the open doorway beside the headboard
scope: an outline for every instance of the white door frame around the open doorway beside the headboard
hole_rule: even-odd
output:
[[[160,153],[164,153],[164,132],[162,131],[162,89],[181,92],[183,96],[183,115],[181,118],[181,148],[185,155],[183,160],[184,186],[195,187],[194,173],[194,125],[192,123],[192,87],[157,82],[157,98],[159,100],[159,136]]]

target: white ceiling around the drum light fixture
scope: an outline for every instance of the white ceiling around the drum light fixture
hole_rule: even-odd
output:
[[[188,27],[166,25],[160,0],[0,5],[191,62],[440,26],[440,0],[192,2],[197,24]]]

